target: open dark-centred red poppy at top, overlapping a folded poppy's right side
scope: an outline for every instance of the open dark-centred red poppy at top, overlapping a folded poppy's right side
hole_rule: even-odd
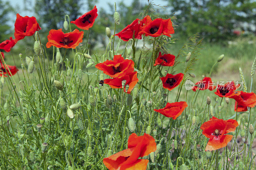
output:
[[[147,25],[142,27],[139,34],[145,34],[145,36],[158,37],[160,35],[166,35],[171,37],[170,34],[174,34],[171,19],[157,18],[149,22]]]

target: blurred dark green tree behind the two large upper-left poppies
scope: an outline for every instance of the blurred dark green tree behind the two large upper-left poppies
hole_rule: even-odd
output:
[[[36,0],[34,10],[36,19],[43,23],[41,27],[60,29],[63,28],[64,16],[68,14],[70,21],[77,19],[81,14],[81,7],[82,0]]]

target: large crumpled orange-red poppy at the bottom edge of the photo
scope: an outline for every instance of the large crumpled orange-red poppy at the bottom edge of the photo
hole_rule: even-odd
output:
[[[144,133],[143,136],[137,136],[133,133],[128,139],[128,149],[104,158],[103,163],[109,170],[146,170],[148,160],[139,159],[139,157],[147,156],[154,151],[156,151],[156,142],[151,135]]]

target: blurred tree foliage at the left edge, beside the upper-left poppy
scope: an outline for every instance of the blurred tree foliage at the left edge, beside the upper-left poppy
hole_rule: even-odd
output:
[[[8,21],[10,21],[9,16],[12,12],[13,8],[10,6],[9,2],[3,2],[0,0],[0,43],[9,39],[10,36],[14,38],[12,30],[10,30],[11,27],[8,25]]]

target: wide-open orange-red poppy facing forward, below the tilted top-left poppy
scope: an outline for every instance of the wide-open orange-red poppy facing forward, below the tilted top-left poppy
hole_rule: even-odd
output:
[[[57,48],[73,48],[75,49],[80,43],[83,42],[84,32],[75,29],[70,33],[63,33],[62,29],[51,29],[49,35],[47,36],[48,42],[46,47],[50,48],[51,46]]]

